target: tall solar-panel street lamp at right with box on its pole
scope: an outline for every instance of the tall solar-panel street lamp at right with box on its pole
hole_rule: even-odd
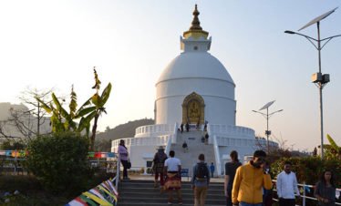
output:
[[[318,72],[314,73],[312,75],[312,82],[315,83],[316,87],[319,89],[319,98],[320,98],[320,132],[321,132],[321,159],[324,159],[324,123],[323,123],[323,101],[322,101],[322,89],[325,87],[325,85],[330,81],[329,74],[322,74],[321,71],[321,50],[322,48],[328,43],[330,40],[332,40],[335,37],[341,36],[329,36],[326,38],[321,39],[320,38],[320,21],[327,17],[328,15],[331,15],[333,12],[335,12],[337,7],[324,15],[317,16],[315,19],[311,20],[308,24],[303,26],[302,28],[298,29],[298,31],[305,29],[308,26],[312,26],[314,24],[317,25],[317,39],[306,36],[294,31],[284,31],[284,33],[289,35],[298,35],[298,36],[304,36],[318,51]],[[323,46],[321,46],[321,43],[324,43]],[[317,46],[315,45],[315,42],[317,43]]]

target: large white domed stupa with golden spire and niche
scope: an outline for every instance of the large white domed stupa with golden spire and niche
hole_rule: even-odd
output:
[[[165,146],[168,153],[187,140],[200,151],[181,157],[189,164],[182,168],[191,168],[191,163],[197,160],[196,154],[204,152],[206,160],[215,162],[217,170],[222,171],[231,150],[237,150],[243,159],[265,144],[263,139],[255,139],[253,129],[235,125],[235,84],[222,63],[208,52],[212,37],[202,30],[199,14],[195,5],[191,27],[181,36],[181,54],[156,82],[155,125],[142,126],[136,129],[134,138],[125,139],[133,168],[146,168],[158,146]],[[189,123],[191,131],[181,134],[178,130],[181,123]],[[202,147],[200,139],[206,132],[205,123],[210,138],[209,146]],[[274,142],[271,144],[276,146]],[[117,151],[118,145],[119,139],[114,140],[112,151]],[[189,158],[194,160],[185,160]]]

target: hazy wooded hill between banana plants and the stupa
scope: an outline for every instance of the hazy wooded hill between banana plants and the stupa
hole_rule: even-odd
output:
[[[108,129],[104,132],[99,132],[96,135],[96,140],[114,140],[122,138],[133,138],[135,136],[135,129],[144,125],[153,125],[154,120],[151,118],[142,118],[139,120],[129,121],[121,124],[114,129]]]

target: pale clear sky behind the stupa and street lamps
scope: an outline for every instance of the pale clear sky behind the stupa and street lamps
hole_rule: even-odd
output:
[[[93,67],[113,88],[99,130],[153,118],[155,83],[181,54],[180,36],[198,4],[201,26],[212,36],[210,53],[236,84],[238,126],[263,136],[266,119],[252,112],[275,100],[269,112],[271,139],[312,151],[320,144],[317,50],[297,31],[339,0],[14,0],[0,1],[0,102],[20,103],[27,88],[54,88],[78,104],[94,90]],[[321,21],[321,37],[341,34],[341,8]],[[316,38],[316,26],[300,31]],[[322,49],[325,134],[341,145],[341,37]],[[325,142],[327,140],[325,139]]]

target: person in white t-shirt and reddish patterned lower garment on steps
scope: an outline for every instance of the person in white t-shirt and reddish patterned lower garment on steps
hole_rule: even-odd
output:
[[[166,181],[164,189],[168,191],[168,204],[171,205],[173,201],[173,191],[178,194],[179,204],[182,204],[181,197],[181,160],[174,157],[175,152],[170,151],[170,158],[165,161],[164,173],[166,175]]]

